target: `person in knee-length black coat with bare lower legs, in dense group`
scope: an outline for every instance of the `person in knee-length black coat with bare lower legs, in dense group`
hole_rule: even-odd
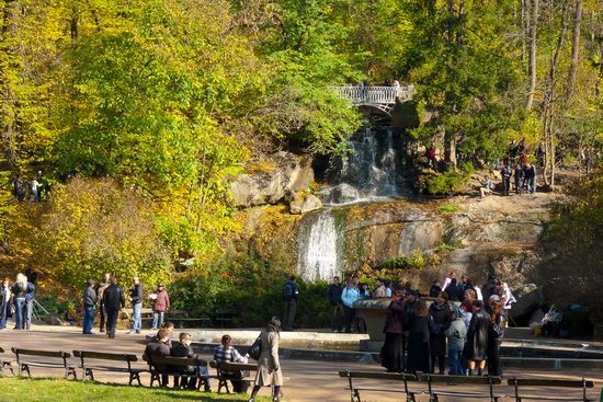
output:
[[[490,328],[490,315],[483,309],[481,300],[474,300],[474,315],[467,331],[467,354],[469,360],[469,376],[478,365],[478,376],[486,367],[488,352],[488,329]]]

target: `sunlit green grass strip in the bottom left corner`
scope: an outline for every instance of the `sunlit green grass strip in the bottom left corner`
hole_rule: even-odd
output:
[[[265,392],[265,390],[264,390]],[[217,394],[147,387],[126,387],[93,381],[59,379],[0,378],[0,401],[19,402],[178,402],[247,401],[244,394]],[[258,398],[258,401],[269,401]]]

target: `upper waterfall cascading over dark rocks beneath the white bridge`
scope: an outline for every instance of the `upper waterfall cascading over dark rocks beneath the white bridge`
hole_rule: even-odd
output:
[[[350,141],[352,154],[342,162],[331,204],[348,204],[400,195],[398,152],[390,128],[365,128]]]

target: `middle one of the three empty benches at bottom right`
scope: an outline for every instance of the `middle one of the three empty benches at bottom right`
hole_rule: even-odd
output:
[[[439,397],[456,397],[467,399],[489,399],[491,402],[498,402],[504,398],[503,394],[494,393],[494,386],[501,383],[500,377],[470,377],[470,376],[444,376],[423,374],[421,381],[428,382],[428,390],[432,402],[437,402]],[[452,390],[434,390],[433,384],[443,383],[447,386],[467,384],[467,386],[489,386],[490,392],[475,391],[452,391]]]

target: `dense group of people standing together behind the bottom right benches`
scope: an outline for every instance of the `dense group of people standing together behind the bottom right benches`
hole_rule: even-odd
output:
[[[490,277],[479,288],[451,273],[435,280],[430,299],[397,289],[387,308],[382,366],[388,371],[422,371],[471,376],[502,376],[500,343],[508,312],[516,300],[509,286]],[[455,302],[453,302],[455,301]],[[476,372],[477,370],[477,372]]]

